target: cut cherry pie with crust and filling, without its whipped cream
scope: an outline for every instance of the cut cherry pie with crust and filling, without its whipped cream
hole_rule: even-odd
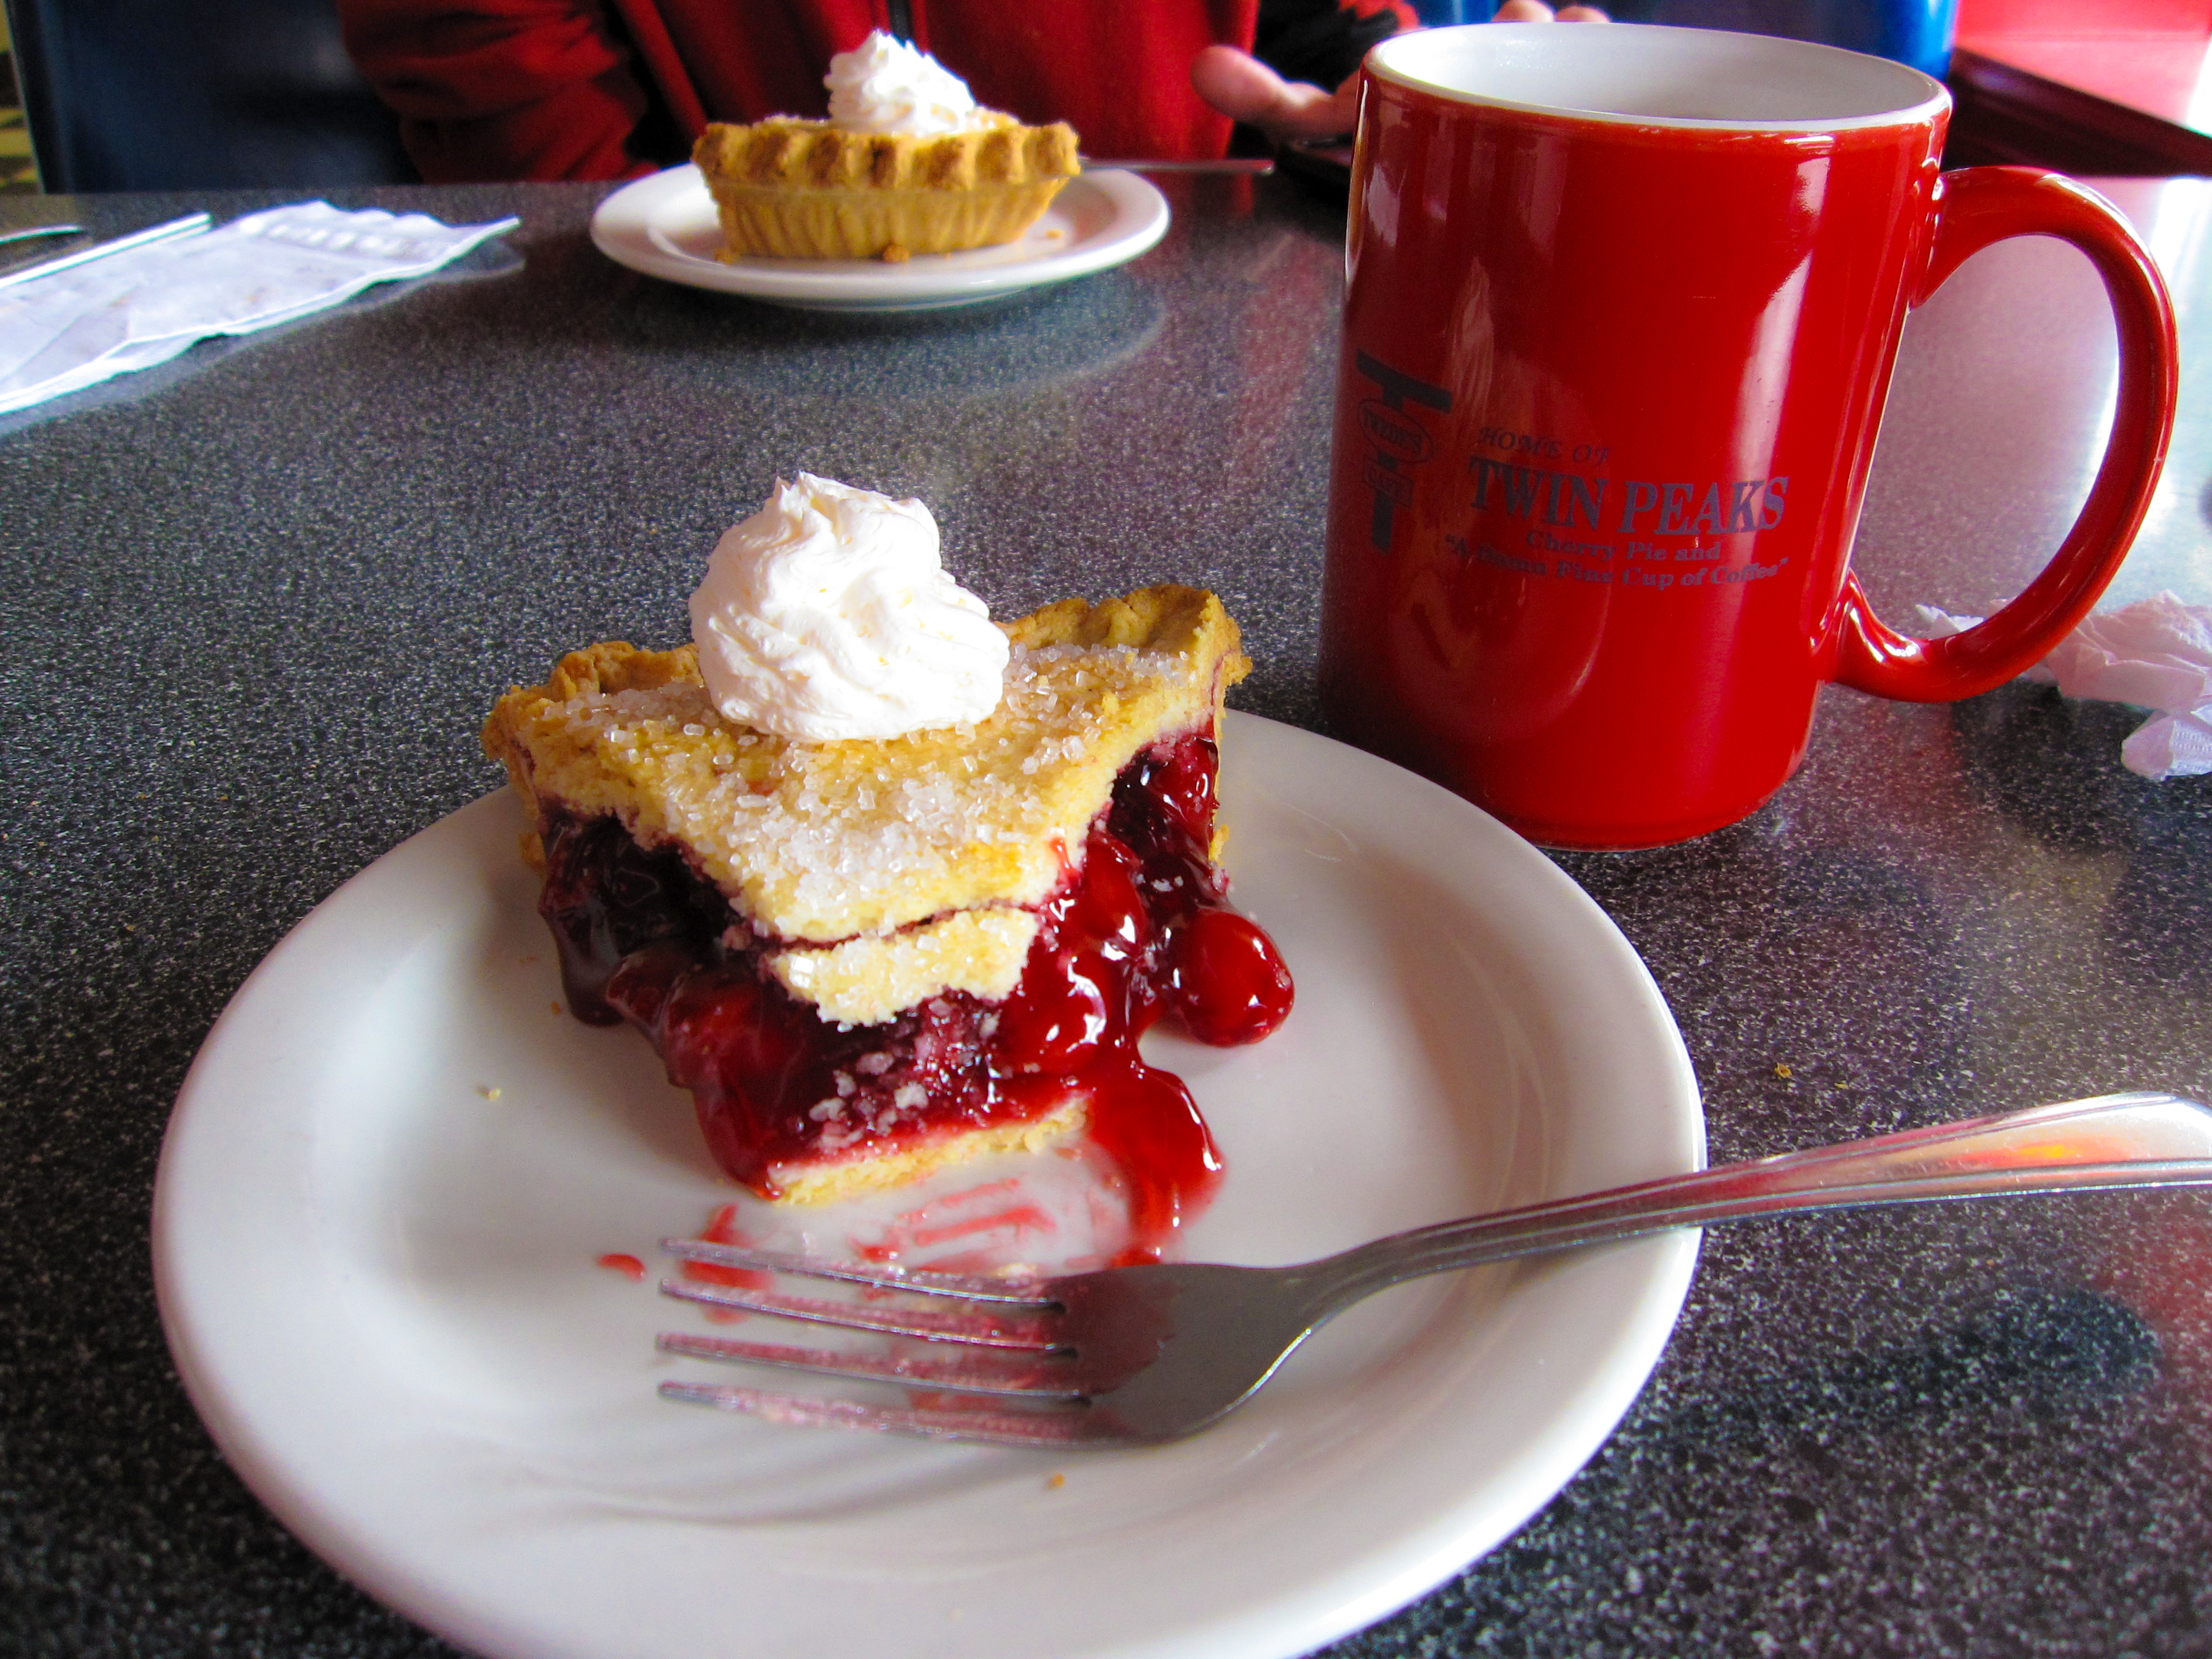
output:
[[[1159,1239],[1219,1177],[1164,1009],[1254,1042],[1274,945],[1212,863],[1221,602],[1144,588],[1006,626],[987,719],[801,743],[728,723],[692,648],[602,644],[500,699],[568,1006],[628,1020],[723,1170],[823,1201],[1084,1128]]]

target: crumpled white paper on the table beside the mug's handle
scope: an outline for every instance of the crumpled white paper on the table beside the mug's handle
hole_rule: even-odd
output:
[[[1916,606],[1929,639],[1964,633],[1982,617]],[[2022,675],[2066,697],[2159,710],[2128,732],[2119,761],[2146,779],[2212,772],[2212,604],[2159,593],[2084,617],[2057,650]]]

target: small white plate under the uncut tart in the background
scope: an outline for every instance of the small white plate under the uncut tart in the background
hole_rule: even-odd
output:
[[[721,226],[688,161],[624,186],[591,217],[608,259],[646,276],[825,312],[929,312],[1121,265],[1168,230],[1168,199],[1135,173],[1068,179],[1018,241],[958,254],[880,259],[714,259]]]

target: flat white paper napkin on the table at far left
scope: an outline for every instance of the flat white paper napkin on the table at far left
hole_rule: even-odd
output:
[[[420,276],[515,223],[301,201],[0,288],[0,414]]]

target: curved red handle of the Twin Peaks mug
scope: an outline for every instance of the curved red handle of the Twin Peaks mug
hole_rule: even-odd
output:
[[[1867,604],[1858,577],[1845,577],[1836,668],[1829,677],[1909,703],[1949,703],[2002,686],[2048,657],[2088,615],[2150,511],[2150,491],[2159,482],[2174,429],[2181,378],[2174,305],[2159,268],[2095,190],[2037,168],[1966,168],[1936,181],[1933,206],[1936,237],[1909,303],[1924,301],[1966,254],[1993,241],[2057,237],[2073,243],[2090,257],[2112,301],[2119,396],[2104,462],[2081,515],[2042,575],[1989,622],[1949,639],[1913,639],[1885,626]]]

